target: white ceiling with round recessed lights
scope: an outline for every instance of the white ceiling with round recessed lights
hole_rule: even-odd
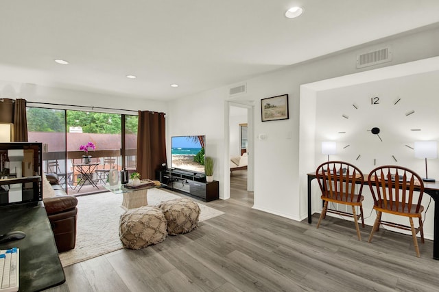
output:
[[[167,101],[438,22],[437,0],[2,0],[0,80]]]

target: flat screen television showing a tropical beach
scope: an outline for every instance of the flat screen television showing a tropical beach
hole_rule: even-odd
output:
[[[204,174],[204,135],[176,136],[171,139],[171,167]]]

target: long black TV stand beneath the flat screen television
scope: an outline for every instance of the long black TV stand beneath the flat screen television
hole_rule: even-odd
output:
[[[204,174],[189,172],[186,170],[161,170],[158,175],[161,183],[167,185],[167,189],[178,191],[181,194],[191,196],[204,202],[210,202],[219,198],[219,183],[213,181],[206,183]]]

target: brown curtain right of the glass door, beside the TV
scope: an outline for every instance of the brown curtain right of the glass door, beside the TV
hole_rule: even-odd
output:
[[[156,178],[166,161],[165,114],[139,111],[137,128],[137,172],[141,178]]]

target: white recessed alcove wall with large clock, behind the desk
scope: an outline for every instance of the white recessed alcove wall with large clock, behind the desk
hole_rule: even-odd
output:
[[[357,165],[368,174],[378,165],[401,165],[418,172],[425,177],[425,161],[414,157],[415,141],[438,141],[439,131],[436,124],[439,123],[437,108],[439,100],[436,98],[439,92],[439,57],[428,59],[429,66],[436,64],[438,70],[418,73],[414,75],[399,76],[397,78],[385,78],[380,81],[366,82],[366,77],[358,78],[359,84],[332,88],[314,92],[313,99],[316,104],[309,109],[316,109],[316,129],[303,130],[305,133],[314,133],[315,148],[314,167],[327,160],[327,155],[321,153],[321,142],[331,140],[337,143],[337,153],[331,155],[331,160],[342,160]],[[408,66],[414,66],[420,62],[412,62],[394,66],[394,72],[401,72]],[[375,70],[375,75],[383,75],[383,71],[389,68]],[[431,70],[429,68],[429,70]],[[345,79],[353,79],[353,75]],[[338,80],[340,81],[340,80]],[[309,87],[304,85],[309,91]],[[320,85],[322,87],[322,85]],[[379,104],[373,104],[371,97],[379,97]],[[301,92],[301,100],[305,98]],[[309,98],[312,99],[312,98]],[[396,103],[396,101],[398,101]],[[396,104],[395,104],[396,103]],[[355,107],[357,109],[355,109]],[[406,116],[410,111],[414,114]],[[344,118],[342,115],[348,117]],[[372,127],[379,127],[379,136],[373,135]],[[416,130],[416,131],[413,131]],[[407,147],[410,146],[410,147]],[[439,177],[438,159],[429,159],[429,177]],[[365,214],[372,214],[373,201],[368,187],[364,187],[365,200],[363,208]],[[313,211],[320,211],[318,204],[320,194],[318,185],[313,185]],[[426,194],[423,197],[423,205],[427,207],[431,198]],[[388,215],[383,215],[387,220]],[[433,238],[434,227],[434,203],[431,204],[425,218],[424,230],[426,238]],[[375,216],[366,216],[365,222],[372,225]],[[388,218],[396,220],[400,224],[407,225],[406,218]],[[401,230],[397,230],[401,232]],[[408,234],[408,232],[407,232]]]

